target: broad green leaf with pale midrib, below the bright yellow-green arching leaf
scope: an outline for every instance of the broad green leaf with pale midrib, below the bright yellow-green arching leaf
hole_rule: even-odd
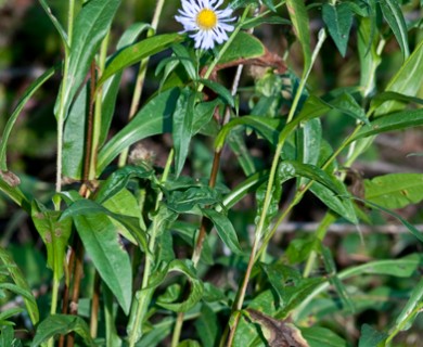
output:
[[[126,147],[132,143],[168,131],[169,120],[178,99],[178,88],[169,89],[151,99],[146,105],[116,133],[100,151],[97,174],[105,167]]]

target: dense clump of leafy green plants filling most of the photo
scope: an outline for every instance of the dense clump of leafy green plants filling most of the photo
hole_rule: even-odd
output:
[[[423,241],[395,211],[423,200],[423,174],[379,176],[360,181],[358,191],[346,183],[379,134],[423,125],[421,21],[405,18],[421,4],[181,3],[174,29],[179,22],[183,33],[157,33],[167,4],[157,0],[151,23],[132,24],[114,43],[120,1],[69,0],[65,28],[39,0],[64,57],[31,83],[8,118],[0,189],[30,216],[44,244],[52,279],[41,297],[50,309],[40,311],[26,269],[3,243],[1,303],[23,299],[0,313],[3,346],[390,345],[423,308],[421,255],[375,257],[338,270],[336,249],[324,240],[339,221],[360,233],[373,210],[397,219],[413,243]],[[284,29],[283,55],[258,38],[264,27]],[[395,63],[388,43],[399,56]],[[157,54],[159,62],[149,64]],[[330,55],[354,59],[359,78],[330,90],[313,87],[313,68]],[[380,74],[388,61],[395,73],[385,81]],[[123,73],[134,64],[128,123],[111,131]],[[52,76],[61,76],[51,116],[55,189],[28,195],[20,172],[9,169],[8,140]],[[151,93],[143,90],[149,83]],[[345,131],[325,127],[333,117]],[[172,144],[162,145],[161,160],[149,142],[137,145],[165,133]],[[252,142],[267,157],[255,157]],[[198,149],[206,149],[203,162]],[[236,180],[220,169],[227,153]],[[275,239],[310,195],[324,206],[316,230],[287,244]],[[238,204],[248,196],[254,206],[240,222]],[[403,279],[403,285],[372,286],[374,278]],[[362,316],[359,322],[367,310],[385,310],[382,304],[393,312],[385,326]],[[347,321],[358,324],[358,334],[349,334]]]

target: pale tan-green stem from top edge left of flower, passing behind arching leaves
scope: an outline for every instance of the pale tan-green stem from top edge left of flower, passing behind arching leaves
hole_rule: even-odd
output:
[[[156,7],[154,9],[153,20],[151,22],[151,29],[146,34],[148,37],[151,37],[156,33],[164,4],[165,4],[165,0],[157,0]],[[140,63],[140,67],[139,67],[138,76],[137,76],[137,80],[136,80],[136,88],[133,90],[133,95],[132,95],[132,102],[131,102],[131,106],[129,110],[128,120],[131,120],[133,118],[133,116],[136,115],[139,106],[140,106],[140,100],[141,100],[141,94],[142,94],[142,90],[144,87],[145,74],[146,74],[146,67],[149,65],[149,61],[150,61],[150,57],[145,57]],[[128,153],[129,153],[129,147],[126,147],[120,153],[120,156],[118,159],[119,167],[125,166],[125,164],[128,159]]]

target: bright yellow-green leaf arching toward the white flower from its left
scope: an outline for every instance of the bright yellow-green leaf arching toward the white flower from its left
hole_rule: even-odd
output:
[[[174,43],[181,42],[183,37],[179,34],[163,34],[146,38],[138,43],[118,51],[106,66],[103,75],[98,81],[98,87],[105,82],[114,74],[131,66],[150,55],[168,49]]]

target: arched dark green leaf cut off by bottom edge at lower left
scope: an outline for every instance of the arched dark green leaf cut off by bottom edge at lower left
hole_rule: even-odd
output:
[[[38,326],[31,347],[37,347],[56,335],[75,332],[84,338],[86,346],[95,347],[88,324],[77,316],[54,314],[46,318]]]

